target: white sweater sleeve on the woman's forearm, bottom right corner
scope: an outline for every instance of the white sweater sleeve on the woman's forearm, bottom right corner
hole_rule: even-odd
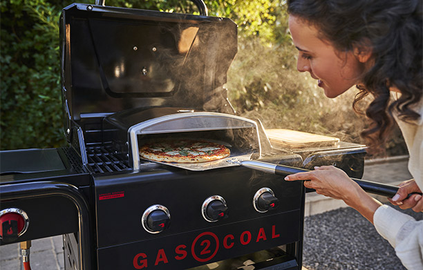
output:
[[[398,258],[408,270],[423,269],[423,220],[382,205],[373,222],[377,232],[395,248]]]

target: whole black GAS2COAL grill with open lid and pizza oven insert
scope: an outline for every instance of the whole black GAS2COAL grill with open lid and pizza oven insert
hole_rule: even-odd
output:
[[[228,160],[361,177],[364,146],[274,148],[227,99],[236,24],[194,3],[201,15],[64,8],[69,146],[0,153],[1,244],[64,235],[65,269],[301,269],[303,184]],[[220,142],[231,156],[140,159],[144,142],[169,137]]]

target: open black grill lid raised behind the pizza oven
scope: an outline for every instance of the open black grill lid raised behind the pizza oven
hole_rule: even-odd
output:
[[[65,130],[85,131],[84,119],[92,125],[129,108],[229,107],[223,85],[237,52],[230,19],[73,3],[62,12],[61,37]]]

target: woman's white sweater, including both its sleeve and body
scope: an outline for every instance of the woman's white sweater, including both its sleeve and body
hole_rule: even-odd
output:
[[[408,171],[423,191],[423,101],[417,112],[421,117],[414,124],[397,119],[407,144],[410,160]],[[373,216],[377,232],[395,248],[398,258],[408,270],[423,270],[423,220],[382,205]]]

